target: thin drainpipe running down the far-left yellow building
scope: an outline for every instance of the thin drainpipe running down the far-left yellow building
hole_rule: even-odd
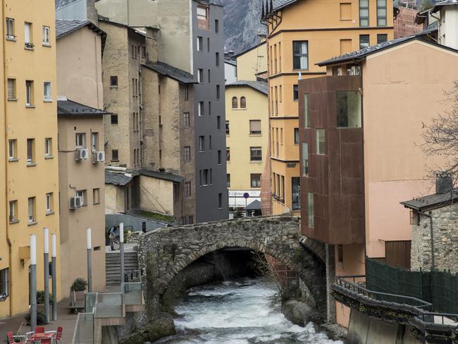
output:
[[[1,18],[4,17],[4,8],[5,8],[5,0],[1,0]],[[4,37],[4,32],[2,32],[2,37]],[[6,49],[3,49],[3,59],[4,59],[4,75],[6,75]],[[7,94],[8,90],[7,87],[4,87],[4,116],[3,116],[3,125],[5,128],[5,157],[8,156],[8,130],[6,130],[6,99],[8,98]],[[5,166],[5,180],[8,181],[8,165]],[[8,216],[8,188],[5,185],[5,208],[6,208],[6,216],[5,216],[5,228],[6,228],[6,242],[8,243],[8,259],[9,259],[9,266],[11,266],[11,262],[13,260],[13,244],[11,243],[10,238],[10,231],[9,231],[9,216]],[[13,269],[9,269],[9,285],[8,285],[8,294],[10,297],[10,317],[13,315],[13,302],[11,302],[13,294]]]

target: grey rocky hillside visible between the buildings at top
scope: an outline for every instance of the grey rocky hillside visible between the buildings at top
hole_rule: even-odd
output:
[[[225,49],[236,53],[260,42],[264,33],[261,18],[261,0],[219,0],[224,6]]]

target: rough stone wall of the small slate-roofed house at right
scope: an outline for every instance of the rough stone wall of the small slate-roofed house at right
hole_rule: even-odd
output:
[[[433,216],[434,268],[458,272],[458,204],[428,211]],[[431,271],[431,221],[420,215],[419,226],[412,226],[411,269]]]

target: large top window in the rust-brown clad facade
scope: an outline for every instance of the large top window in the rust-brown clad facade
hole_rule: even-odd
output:
[[[337,91],[335,99],[338,128],[361,128],[361,94]]]

